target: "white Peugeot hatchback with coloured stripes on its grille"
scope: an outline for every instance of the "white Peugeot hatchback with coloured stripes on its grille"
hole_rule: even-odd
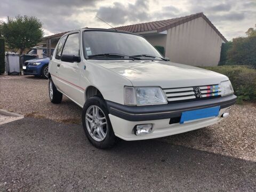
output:
[[[233,92],[227,76],[170,62],[125,31],[71,31],[49,63],[51,102],[65,94],[83,108],[86,137],[98,148],[220,122],[236,101]]]

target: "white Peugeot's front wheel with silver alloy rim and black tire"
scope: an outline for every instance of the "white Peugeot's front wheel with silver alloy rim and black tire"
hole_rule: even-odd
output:
[[[95,112],[94,114],[97,115],[93,116],[93,110],[97,111],[97,108],[98,113]],[[82,111],[83,129],[87,139],[99,149],[111,148],[119,141],[113,131],[108,114],[106,102],[98,96],[91,97],[84,103]],[[103,125],[100,126],[101,124]]]

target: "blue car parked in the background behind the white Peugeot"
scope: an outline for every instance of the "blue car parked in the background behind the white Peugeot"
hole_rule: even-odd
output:
[[[35,75],[48,78],[48,65],[50,58],[33,59],[25,61],[22,66],[24,75]]]

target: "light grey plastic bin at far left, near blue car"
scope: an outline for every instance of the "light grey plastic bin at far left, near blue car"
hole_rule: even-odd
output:
[[[20,56],[16,53],[6,54],[6,72],[8,75],[20,75]]]

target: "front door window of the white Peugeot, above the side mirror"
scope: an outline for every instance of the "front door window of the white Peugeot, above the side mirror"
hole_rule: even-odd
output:
[[[79,56],[79,34],[70,34],[67,38],[62,54]]]

